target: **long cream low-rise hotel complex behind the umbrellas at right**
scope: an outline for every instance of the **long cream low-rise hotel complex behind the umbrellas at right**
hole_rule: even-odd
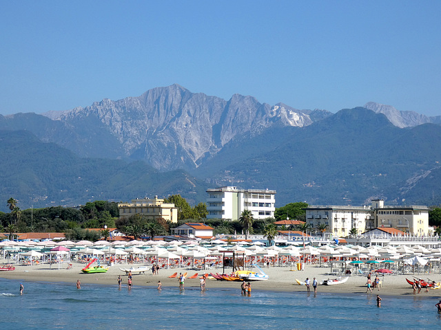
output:
[[[382,199],[374,199],[371,206],[311,206],[305,210],[306,221],[311,227],[328,225],[327,232],[334,236],[347,236],[352,228],[356,228],[357,234],[373,228],[429,234],[427,206],[384,206]]]

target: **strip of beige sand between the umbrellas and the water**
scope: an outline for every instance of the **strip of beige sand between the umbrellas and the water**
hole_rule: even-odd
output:
[[[57,265],[52,265],[50,269],[49,265],[32,265],[23,266],[16,265],[14,271],[0,272],[0,278],[8,278],[17,281],[43,281],[43,282],[65,282],[75,285],[76,280],[79,279],[81,283],[100,284],[100,285],[116,285],[119,275],[123,278],[123,285],[127,283],[127,276],[124,272],[121,272],[121,268],[130,268],[130,265],[114,265],[110,267],[107,273],[101,274],[83,274],[81,268],[83,264],[74,263],[72,269],[67,270],[64,266],[58,270]],[[137,267],[136,265],[134,267]],[[231,268],[229,268],[231,271]],[[159,275],[152,275],[152,272],[145,272],[145,274],[133,274],[133,285],[142,286],[156,286],[158,281],[161,281],[164,288],[166,287],[178,287],[177,278],[168,278],[174,272],[188,272],[187,276],[192,276],[196,272],[200,275],[204,271],[187,270],[185,268],[175,268],[173,270],[161,270]],[[209,272],[222,272],[222,269],[207,270]],[[294,285],[296,278],[300,281],[305,281],[305,278],[309,278],[312,282],[312,278],[316,277],[318,282],[327,278],[333,278],[328,276],[329,268],[318,267],[316,265],[307,265],[305,270],[291,271],[289,267],[269,267],[265,268],[265,272],[269,275],[268,281],[252,282],[252,288],[254,290],[271,290],[278,292],[306,292],[304,285]],[[375,276],[375,275],[373,275]],[[413,276],[423,278],[427,281],[430,278],[433,281],[441,282],[441,274],[408,274],[408,275],[386,275],[380,276],[380,280],[383,281],[380,291],[373,290],[373,294],[380,294],[380,296],[414,296],[412,294],[412,287],[406,282],[406,278],[413,279]],[[335,277],[335,276],[334,276]],[[366,276],[352,275],[349,280],[342,285],[319,285],[318,292],[321,293],[335,293],[335,294],[366,294]],[[207,288],[236,288],[240,290],[240,282],[229,281],[216,281],[207,280]],[[199,287],[198,278],[185,281],[185,287]],[[441,289],[429,289],[429,292],[425,292],[425,289],[421,289],[418,297],[441,297]]]

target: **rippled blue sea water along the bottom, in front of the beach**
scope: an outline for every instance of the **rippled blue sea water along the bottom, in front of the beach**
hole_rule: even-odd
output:
[[[438,299],[0,279],[1,329],[440,329]],[[320,287],[319,287],[320,289]],[[381,292],[380,292],[381,294]]]

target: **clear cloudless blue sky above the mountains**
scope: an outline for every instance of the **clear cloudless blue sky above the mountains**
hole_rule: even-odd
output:
[[[178,83],[297,109],[441,115],[441,1],[2,1],[0,113]]]

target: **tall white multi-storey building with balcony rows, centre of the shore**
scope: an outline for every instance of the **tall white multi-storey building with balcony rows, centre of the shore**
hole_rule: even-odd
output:
[[[238,220],[243,210],[250,210],[254,219],[274,217],[276,190],[227,186],[207,189],[207,194],[207,219]]]

